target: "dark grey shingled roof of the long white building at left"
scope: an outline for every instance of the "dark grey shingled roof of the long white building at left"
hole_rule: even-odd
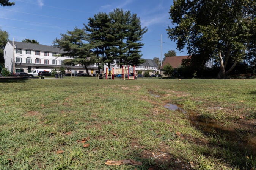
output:
[[[10,42],[13,44],[12,42]],[[53,52],[53,53],[65,53],[60,48],[54,48],[53,46],[49,45],[41,45],[41,44],[31,44],[31,43],[25,43],[25,42],[17,42],[15,41],[14,44],[16,45],[16,48],[20,49],[29,49],[33,51],[47,51],[47,52]]]

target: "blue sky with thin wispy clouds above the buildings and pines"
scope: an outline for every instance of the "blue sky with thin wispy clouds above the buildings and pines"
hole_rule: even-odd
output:
[[[13,2],[13,0],[9,0]],[[14,0],[14,6],[0,6],[0,27],[9,33],[9,39],[20,41],[35,39],[40,44],[52,45],[53,40],[75,26],[83,28],[88,18],[99,12],[122,8],[140,17],[141,25],[148,28],[143,35],[142,58],[162,58],[169,50],[177,56],[187,55],[186,50],[176,49],[176,42],[168,38],[166,28],[172,26],[169,19],[171,0]],[[73,3],[74,2],[74,3]]]

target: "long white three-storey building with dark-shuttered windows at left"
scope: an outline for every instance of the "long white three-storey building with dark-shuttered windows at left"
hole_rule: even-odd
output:
[[[67,73],[71,70],[75,70],[75,73],[86,73],[85,67],[82,65],[64,65],[64,60],[70,59],[70,57],[58,56],[63,53],[65,53],[63,50],[53,46],[24,42],[14,42],[13,46],[13,42],[7,42],[4,49],[5,68],[10,72],[30,73],[34,69],[56,68],[58,70],[58,68],[64,66]],[[93,74],[98,70],[96,64],[87,66],[87,68],[89,73],[93,72]]]

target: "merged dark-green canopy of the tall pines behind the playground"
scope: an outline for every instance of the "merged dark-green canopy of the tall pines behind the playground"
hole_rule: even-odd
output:
[[[141,28],[136,14],[123,9],[107,13],[100,12],[89,18],[85,25],[89,39],[98,60],[110,67],[114,60],[121,65],[138,65],[141,63],[141,39],[147,28]]]

